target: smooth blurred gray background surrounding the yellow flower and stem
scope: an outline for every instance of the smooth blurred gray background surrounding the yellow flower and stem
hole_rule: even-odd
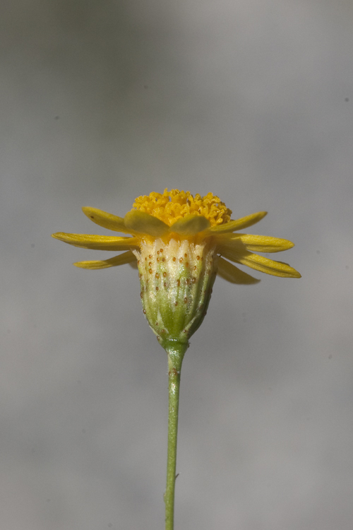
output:
[[[164,188],[285,237],[301,280],[217,279],[181,381],[176,529],[351,530],[351,0],[0,8],[1,528],[164,527],[167,360],[112,235]],[[276,258],[276,256],[275,256]],[[248,269],[249,271],[249,269]],[[251,272],[251,271],[250,271]]]

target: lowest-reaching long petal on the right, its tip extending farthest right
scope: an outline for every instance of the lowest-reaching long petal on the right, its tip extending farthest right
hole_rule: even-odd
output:
[[[251,267],[256,271],[272,274],[273,276],[280,276],[281,278],[301,278],[301,274],[293,269],[287,263],[282,261],[273,261],[272,259],[258,256],[258,254],[251,254],[251,252],[237,252],[232,249],[222,249],[222,256],[231,261],[236,261],[242,265]]]

